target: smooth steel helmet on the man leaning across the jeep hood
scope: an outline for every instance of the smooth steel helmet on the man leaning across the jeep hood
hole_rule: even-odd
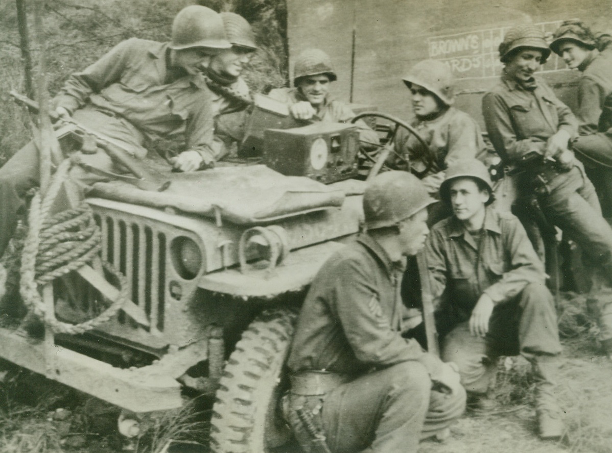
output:
[[[221,16],[206,6],[183,8],[172,23],[170,48],[182,50],[193,47],[208,48],[212,53],[231,48]]]

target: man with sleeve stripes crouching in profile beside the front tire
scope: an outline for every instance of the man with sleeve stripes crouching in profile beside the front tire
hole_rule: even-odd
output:
[[[285,397],[305,451],[312,449],[304,413],[334,453],[416,452],[421,438],[447,432],[463,413],[455,369],[401,336],[403,257],[423,248],[431,202],[414,175],[378,175],[364,193],[367,232],[330,257],[313,281]]]

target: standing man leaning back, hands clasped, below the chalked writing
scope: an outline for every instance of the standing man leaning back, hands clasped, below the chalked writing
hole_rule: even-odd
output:
[[[519,199],[535,197],[547,220],[575,241],[588,259],[597,292],[612,286],[612,229],[570,140],[578,122],[569,107],[535,76],[550,55],[543,32],[533,25],[510,29],[499,45],[504,74],[482,100],[489,138],[502,161],[516,166]],[[603,283],[602,283],[603,282]],[[596,296],[596,295],[594,295]],[[612,300],[600,303],[600,340],[612,355]]]

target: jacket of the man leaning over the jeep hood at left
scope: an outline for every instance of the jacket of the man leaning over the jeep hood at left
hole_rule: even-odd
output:
[[[218,95],[203,76],[166,82],[168,43],[129,39],[70,76],[55,104],[74,112],[87,103],[128,120],[147,141],[184,138],[188,150],[213,157],[210,145]],[[218,106],[217,106],[218,108]]]

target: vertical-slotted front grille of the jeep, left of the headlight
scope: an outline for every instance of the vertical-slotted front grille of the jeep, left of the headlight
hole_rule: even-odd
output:
[[[111,216],[95,215],[102,229],[102,259],[124,274],[130,285],[128,295],[143,308],[151,332],[164,328],[166,235],[151,227]],[[123,312],[118,315],[122,324],[132,323]]]

